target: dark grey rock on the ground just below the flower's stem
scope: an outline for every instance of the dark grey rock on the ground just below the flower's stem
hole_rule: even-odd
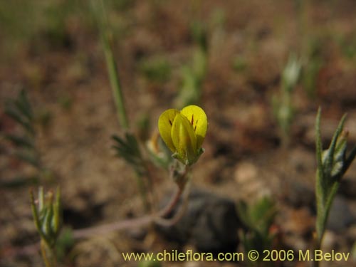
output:
[[[164,204],[167,199],[164,199]],[[181,203],[169,216],[172,217],[180,206]],[[234,201],[194,189],[189,194],[187,211],[182,219],[174,226],[157,225],[157,230],[169,241],[181,245],[189,242],[198,251],[219,253],[236,251],[239,227]]]

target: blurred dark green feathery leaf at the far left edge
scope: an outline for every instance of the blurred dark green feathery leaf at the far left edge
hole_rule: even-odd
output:
[[[1,182],[1,186],[19,187],[23,184],[33,184],[39,180],[52,178],[51,172],[43,166],[41,154],[36,146],[35,115],[26,90],[20,90],[16,99],[8,100],[5,113],[22,128],[21,134],[4,135],[4,139],[9,140],[15,147],[11,154],[21,161],[31,164],[36,169],[36,174],[31,177],[15,177],[11,179],[11,182]]]

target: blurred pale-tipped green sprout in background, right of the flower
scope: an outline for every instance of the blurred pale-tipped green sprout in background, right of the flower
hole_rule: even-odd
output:
[[[281,88],[278,95],[272,98],[273,113],[281,130],[284,147],[288,146],[290,126],[293,122],[295,108],[293,106],[293,90],[298,83],[301,63],[295,55],[290,55],[282,73]]]

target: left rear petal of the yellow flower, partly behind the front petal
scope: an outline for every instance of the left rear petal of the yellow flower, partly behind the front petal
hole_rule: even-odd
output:
[[[166,143],[167,147],[169,147],[172,152],[176,152],[176,149],[172,142],[172,125],[174,122],[174,118],[179,114],[179,110],[175,110],[171,108],[166,110],[159,116],[158,119],[158,130],[159,134],[162,137],[162,140]]]

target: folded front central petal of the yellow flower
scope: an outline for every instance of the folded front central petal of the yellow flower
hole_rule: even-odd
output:
[[[181,159],[192,162],[197,155],[197,137],[187,117],[178,113],[172,125],[172,142]]]

